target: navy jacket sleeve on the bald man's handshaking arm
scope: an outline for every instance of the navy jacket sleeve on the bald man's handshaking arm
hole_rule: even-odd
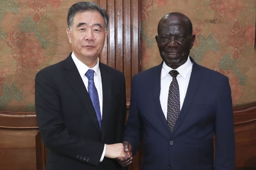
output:
[[[128,141],[131,144],[133,155],[135,155],[137,150],[140,148],[140,141],[142,139],[143,133],[143,122],[137,109],[136,98],[136,82],[134,76],[131,82],[131,103],[129,109],[129,117],[126,122],[125,132],[122,139],[122,141]]]

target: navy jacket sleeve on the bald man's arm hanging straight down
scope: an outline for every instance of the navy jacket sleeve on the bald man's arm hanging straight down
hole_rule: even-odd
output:
[[[225,77],[218,94],[215,117],[215,170],[235,169],[235,138],[233,108],[228,78]]]

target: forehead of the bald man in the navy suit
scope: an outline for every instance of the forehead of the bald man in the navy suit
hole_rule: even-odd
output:
[[[189,24],[186,19],[182,16],[168,16],[163,18],[159,23],[159,33],[167,34],[167,33],[189,33]]]

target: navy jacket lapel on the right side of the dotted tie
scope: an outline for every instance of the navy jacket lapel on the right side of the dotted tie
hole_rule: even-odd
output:
[[[191,57],[189,57],[189,58],[193,62],[192,72],[191,72],[191,76],[189,79],[189,85],[188,85],[188,89],[186,91],[186,96],[185,96],[185,99],[183,102],[183,106],[181,108],[180,115],[177,119],[176,125],[172,131],[172,136],[175,133],[175,131],[177,130],[177,128],[179,127],[180,123],[182,122],[182,120],[186,116],[186,113],[189,110],[189,107],[194,99],[195,92],[198,87],[198,82],[199,82],[199,79],[201,76],[201,69],[199,69],[198,64],[195,63],[195,61]]]

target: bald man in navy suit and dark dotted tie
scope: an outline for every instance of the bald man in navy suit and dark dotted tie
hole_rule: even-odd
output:
[[[143,170],[234,170],[228,78],[189,57],[195,35],[185,15],[166,14],[155,38],[163,62],[133,77],[126,152],[143,139]]]

